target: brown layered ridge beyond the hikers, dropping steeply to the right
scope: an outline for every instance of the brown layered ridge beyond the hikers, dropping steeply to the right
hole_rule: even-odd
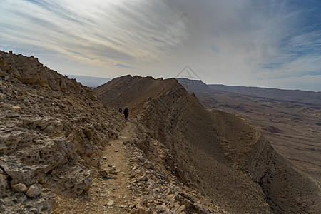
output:
[[[320,187],[274,151],[244,118],[208,111],[175,79],[124,76],[94,90],[128,106],[156,168],[231,213],[318,213]],[[319,200],[319,201],[318,201]]]

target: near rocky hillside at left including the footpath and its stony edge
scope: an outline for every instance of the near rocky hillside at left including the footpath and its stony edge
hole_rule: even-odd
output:
[[[0,117],[0,213],[228,213],[154,165],[136,122],[33,56],[0,52]]]

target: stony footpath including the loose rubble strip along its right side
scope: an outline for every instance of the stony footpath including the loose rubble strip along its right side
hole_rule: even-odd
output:
[[[58,196],[54,213],[227,213],[154,168],[132,146],[138,139],[134,124],[127,121],[118,140],[104,148],[101,167],[92,168],[89,196]]]

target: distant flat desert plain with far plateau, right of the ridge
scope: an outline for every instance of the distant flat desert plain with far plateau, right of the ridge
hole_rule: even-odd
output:
[[[246,118],[278,153],[321,182],[321,92],[237,86],[219,91],[199,81],[180,83],[206,108]]]

